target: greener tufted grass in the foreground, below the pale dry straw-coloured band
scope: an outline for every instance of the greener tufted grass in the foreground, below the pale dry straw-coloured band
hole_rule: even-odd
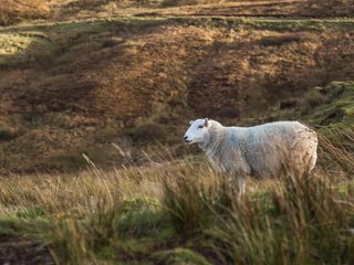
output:
[[[238,200],[206,165],[184,165],[173,171],[160,172],[159,178],[166,178],[160,199],[123,199],[121,187],[115,195],[98,189],[83,193],[90,191],[90,181],[76,179],[82,190],[72,194],[73,203],[66,210],[14,209],[2,214],[0,235],[45,242],[56,261],[65,264],[354,261],[352,181],[337,182],[326,174],[288,178],[269,182],[271,186],[259,181]],[[104,178],[103,172],[95,178]],[[71,186],[67,182],[62,192]],[[76,195],[84,195],[87,204],[77,208]]]

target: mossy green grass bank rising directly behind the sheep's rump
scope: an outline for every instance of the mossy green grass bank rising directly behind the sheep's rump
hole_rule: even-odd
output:
[[[353,82],[331,82],[325,86],[309,89],[301,99],[280,102],[257,123],[274,119],[299,119],[316,128],[334,144],[340,144],[351,134],[354,124]],[[289,105],[289,106],[288,106]],[[246,120],[243,123],[247,124]],[[254,123],[253,119],[248,123]]]

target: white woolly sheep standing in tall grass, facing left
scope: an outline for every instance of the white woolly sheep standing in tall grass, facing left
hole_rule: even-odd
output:
[[[217,173],[229,174],[230,191],[237,179],[239,197],[244,179],[302,176],[317,159],[316,132],[299,121],[274,121],[253,127],[225,127],[211,119],[190,120],[185,142],[198,144]]]

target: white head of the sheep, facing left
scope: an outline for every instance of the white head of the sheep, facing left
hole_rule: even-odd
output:
[[[184,140],[187,144],[200,144],[206,140],[208,129],[211,126],[210,120],[205,119],[196,119],[189,121],[190,127],[185,134]]]

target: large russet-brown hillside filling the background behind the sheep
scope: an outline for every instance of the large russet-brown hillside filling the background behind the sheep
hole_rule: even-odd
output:
[[[42,20],[0,32],[3,172],[79,169],[82,153],[118,167],[112,144],[140,163],[155,138],[178,155],[190,118],[251,125],[287,100],[302,108],[315,86],[353,80],[354,21],[306,18],[312,9],[298,6],[311,1],[41,3],[19,2],[14,13],[38,7]],[[289,6],[285,17],[304,18],[239,18],[246,11],[233,6],[257,17]]]

